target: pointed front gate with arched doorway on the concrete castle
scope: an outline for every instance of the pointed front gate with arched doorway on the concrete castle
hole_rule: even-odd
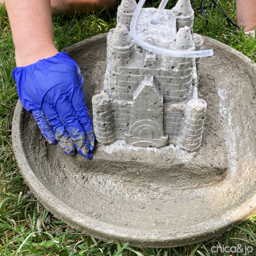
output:
[[[168,136],[163,128],[163,93],[154,82],[154,76],[146,76],[134,93],[131,126],[125,142],[135,146],[162,147]]]

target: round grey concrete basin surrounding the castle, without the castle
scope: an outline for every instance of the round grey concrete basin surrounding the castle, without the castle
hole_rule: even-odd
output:
[[[256,210],[256,64],[204,37],[198,95],[207,102],[196,152],[96,144],[93,158],[64,154],[18,102],[13,148],[20,172],[56,217],[105,241],[167,247],[228,230]],[[106,34],[66,49],[81,67],[86,103],[103,88]]]

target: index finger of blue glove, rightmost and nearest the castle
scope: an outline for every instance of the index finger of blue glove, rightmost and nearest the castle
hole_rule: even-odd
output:
[[[92,120],[88,114],[84,94],[79,86],[76,86],[73,91],[72,106],[75,110],[79,123],[85,131],[85,136],[87,141],[89,142],[90,151],[93,151],[95,138],[94,132],[92,130]]]

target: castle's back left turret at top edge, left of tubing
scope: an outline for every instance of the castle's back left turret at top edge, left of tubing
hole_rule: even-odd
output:
[[[117,24],[121,23],[130,30],[131,19],[136,6],[135,0],[122,0],[117,9]]]

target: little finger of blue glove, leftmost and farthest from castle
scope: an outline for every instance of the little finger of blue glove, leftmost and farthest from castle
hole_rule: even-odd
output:
[[[46,138],[46,140],[50,144],[56,144],[56,138],[55,138],[53,129],[51,128],[48,121],[46,120],[43,110],[35,107],[31,111],[31,113],[34,116],[36,123],[39,129],[41,130],[43,136]]]

